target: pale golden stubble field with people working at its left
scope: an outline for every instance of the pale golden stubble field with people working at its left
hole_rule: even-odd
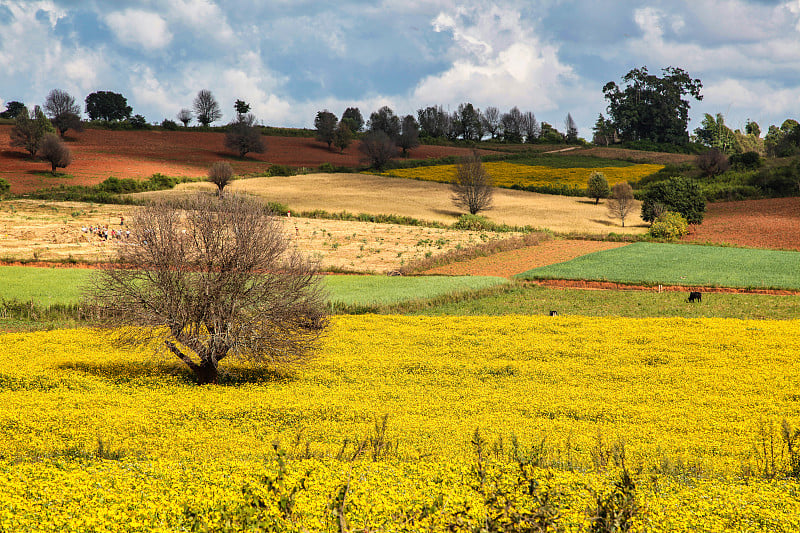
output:
[[[125,239],[105,239],[83,228],[124,231],[134,208],[80,202],[0,202],[0,260],[105,261]],[[428,254],[516,234],[453,231],[396,224],[284,218],[296,246],[323,269],[387,272]]]

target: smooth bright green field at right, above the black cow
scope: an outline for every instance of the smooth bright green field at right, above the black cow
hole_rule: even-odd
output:
[[[517,277],[800,290],[800,252],[640,242]]]

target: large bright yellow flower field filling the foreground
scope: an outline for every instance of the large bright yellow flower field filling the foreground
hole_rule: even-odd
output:
[[[338,531],[330,505],[349,483],[354,529],[443,531],[457,511],[482,509],[470,488],[476,428],[490,471],[505,475],[514,435],[529,451],[544,442],[536,476],[561,494],[568,531],[586,525],[587,487],[607,492],[618,479],[623,442],[643,506],[637,530],[796,531],[800,484],[758,475],[754,445],[760,425],[800,421],[799,327],[336,317],[307,365],[228,366],[207,387],[165,356],[89,330],[3,334],[0,531],[181,531],[193,516],[219,525],[243,487],[275,500],[262,476],[276,479],[276,445],[289,456],[278,485],[288,493],[306,478],[291,516],[264,511],[284,530]],[[386,443],[377,461],[369,449],[345,460],[365,437]]]

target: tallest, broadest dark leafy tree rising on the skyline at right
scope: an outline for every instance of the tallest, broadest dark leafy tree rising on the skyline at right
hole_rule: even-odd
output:
[[[702,100],[703,85],[680,68],[667,67],[662,72],[658,77],[647,67],[636,68],[623,76],[623,90],[613,81],[603,87],[608,114],[623,141],[689,142],[690,106],[684,97]]]

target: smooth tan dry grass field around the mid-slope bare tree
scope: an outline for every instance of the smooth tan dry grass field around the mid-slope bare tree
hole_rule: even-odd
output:
[[[454,208],[450,187],[446,184],[385,176],[306,174],[238,180],[229,187],[231,191],[287,204],[295,211],[324,209],[330,212],[405,215],[447,224],[452,224],[463,214]],[[196,189],[212,191],[213,185],[186,183],[174,191],[142,194],[180,194],[181,191]],[[638,211],[637,202],[634,213]],[[602,202],[594,205],[594,200],[588,198],[510,189],[496,189],[494,208],[481,214],[502,224],[557,232],[641,234],[647,231],[647,225],[641,219],[630,220],[623,228],[619,221],[608,216]]]

